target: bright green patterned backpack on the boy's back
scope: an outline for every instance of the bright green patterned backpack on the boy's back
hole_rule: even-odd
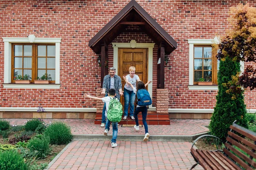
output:
[[[120,122],[122,113],[122,104],[115,97],[111,98],[107,111],[108,120],[111,122]]]

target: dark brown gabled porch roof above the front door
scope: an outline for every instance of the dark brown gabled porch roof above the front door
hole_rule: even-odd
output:
[[[139,26],[139,32],[145,32],[158,46],[164,45],[167,55],[177,48],[177,42],[135,0],[131,0],[89,41],[89,47],[100,54],[101,45],[110,44],[129,25]]]

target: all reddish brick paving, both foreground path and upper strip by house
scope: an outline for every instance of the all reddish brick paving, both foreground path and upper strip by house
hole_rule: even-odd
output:
[[[11,125],[24,125],[28,119],[5,119]],[[45,119],[46,122],[67,123],[74,135],[102,135],[104,128],[94,125],[93,119]],[[194,135],[207,132],[208,119],[172,119],[170,125],[148,125],[151,135]],[[133,127],[118,127],[118,135],[144,135]],[[109,131],[112,134],[112,127]],[[191,142],[169,141],[110,141],[70,142],[49,164],[49,170],[189,170],[194,159],[190,154]],[[198,165],[195,170],[203,170]]]

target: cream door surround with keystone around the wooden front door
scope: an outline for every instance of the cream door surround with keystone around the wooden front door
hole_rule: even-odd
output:
[[[131,40],[128,43],[122,42],[112,42],[113,45],[113,66],[116,68],[116,73],[118,73],[118,48],[148,48],[148,80],[153,79],[153,48],[155,43],[137,43],[135,40]],[[119,75],[122,77],[122,75]],[[152,97],[152,83],[148,84],[148,93]],[[152,105],[149,106],[150,108]]]

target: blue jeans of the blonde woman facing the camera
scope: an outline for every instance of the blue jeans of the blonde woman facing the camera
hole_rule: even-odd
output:
[[[130,104],[130,116],[134,115],[134,101],[135,101],[136,94],[133,91],[129,91],[124,88],[124,99],[125,99],[125,109],[124,109],[124,116],[128,116],[128,107]]]

